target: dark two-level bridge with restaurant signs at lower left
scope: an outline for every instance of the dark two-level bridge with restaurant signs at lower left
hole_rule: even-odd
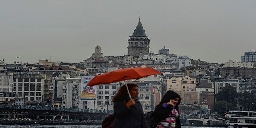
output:
[[[112,110],[0,105],[0,119],[103,120]]]

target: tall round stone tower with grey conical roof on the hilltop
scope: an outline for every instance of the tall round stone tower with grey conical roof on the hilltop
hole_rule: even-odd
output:
[[[142,27],[139,16],[139,23],[134,30],[132,36],[128,39],[128,55],[129,56],[139,56],[147,55],[149,53],[150,39],[145,33]]]

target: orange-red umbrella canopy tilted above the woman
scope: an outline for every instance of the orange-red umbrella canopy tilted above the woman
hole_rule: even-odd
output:
[[[106,74],[95,76],[86,86],[98,84],[113,83],[129,79],[139,79],[150,75],[161,74],[161,72],[152,68],[125,68]]]

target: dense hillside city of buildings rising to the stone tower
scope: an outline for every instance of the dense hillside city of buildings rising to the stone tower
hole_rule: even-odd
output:
[[[18,56],[18,61],[7,64],[8,58],[1,59],[0,105],[113,112],[112,99],[124,82],[86,87],[90,79],[117,69],[150,67],[162,74],[127,81],[139,86],[144,113],[154,110],[168,90],[182,98],[181,118],[213,118],[231,110],[256,111],[256,51],[242,53],[240,61],[227,58],[222,64],[171,54],[165,46],[154,53],[140,19],[127,37],[127,55],[104,56],[98,42],[95,52],[79,63],[38,58],[30,64]],[[14,117],[0,113],[0,118]]]

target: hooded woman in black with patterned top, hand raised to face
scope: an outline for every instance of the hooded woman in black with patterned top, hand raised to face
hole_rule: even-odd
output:
[[[174,91],[167,91],[160,104],[155,107],[154,116],[160,122],[154,128],[181,128],[178,109],[180,101],[180,95]]]

